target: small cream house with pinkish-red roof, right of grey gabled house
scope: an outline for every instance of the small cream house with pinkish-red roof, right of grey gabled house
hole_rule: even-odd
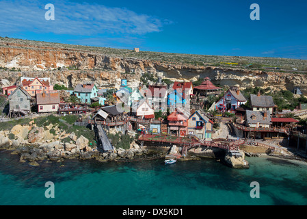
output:
[[[36,95],[38,112],[57,112],[59,110],[59,93],[41,93]]]

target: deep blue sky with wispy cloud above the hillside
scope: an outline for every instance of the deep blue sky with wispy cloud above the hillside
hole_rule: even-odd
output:
[[[53,3],[55,20],[44,6]],[[250,19],[250,5],[260,20]],[[307,60],[307,1],[1,1],[0,36],[97,47]]]

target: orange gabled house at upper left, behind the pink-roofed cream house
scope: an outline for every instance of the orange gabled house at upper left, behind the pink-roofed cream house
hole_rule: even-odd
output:
[[[49,94],[49,92],[53,91],[53,86],[48,80],[39,79],[38,77],[34,79],[23,78],[21,84],[23,89],[25,89],[31,96],[36,96],[36,94],[42,92]]]

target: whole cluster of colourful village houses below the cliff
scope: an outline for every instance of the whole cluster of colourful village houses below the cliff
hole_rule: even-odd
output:
[[[239,87],[224,91],[205,77],[198,86],[191,81],[167,85],[161,78],[129,88],[122,79],[119,90],[98,89],[94,82],[78,84],[72,90],[55,90],[50,78],[21,77],[16,85],[2,88],[10,101],[8,117],[38,114],[89,114],[86,123],[116,129],[123,134],[133,131],[144,135],[195,136],[212,140],[218,136],[222,116],[232,115],[232,131],[237,138],[289,138],[299,120],[276,112],[272,96],[250,94]],[[219,96],[209,109],[203,105]],[[205,111],[206,110],[206,111]]]

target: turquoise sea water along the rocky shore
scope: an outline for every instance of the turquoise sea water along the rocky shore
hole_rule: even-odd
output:
[[[307,205],[307,164],[248,157],[250,169],[214,159],[99,163],[66,160],[38,167],[0,151],[0,205]],[[64,165],[64,166],[63,166]],[[47,181],[55,198],[46,198]],[[250,197],[250,183],[260,198]]]

